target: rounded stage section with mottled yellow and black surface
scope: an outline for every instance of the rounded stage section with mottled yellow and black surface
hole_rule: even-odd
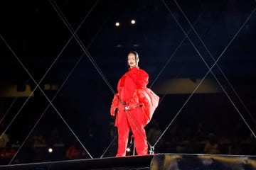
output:
[[[152,170],[255,170],[256,157],[214,154],[157,154]]]

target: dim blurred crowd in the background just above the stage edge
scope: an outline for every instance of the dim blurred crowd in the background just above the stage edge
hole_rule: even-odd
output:
[[[233,132],[223,134],[216,126],[215,130],[209,131],[202,122],[191,128],[181,123],[173,123],[167,129],[161,128],[157,119],[151,120],[146,126],[146,136],[150,146],[154,146],[154,153],[179,153],[179,154],[232,154],[232,155],[255,155],[256,140],[252,132],[244,132],[242,125],[233,128]],[[111,144],[105,153],[105,157],[114,157],[117,149],[117,129],[112,123],[106,128],[106,139],[97,138],[94,130],[87,135],[95,137],[95,141],[103,140],[105,147]],[[131,134],[132,136],[132,134]],[[132,139],[130,141],[132,143]],[[22,145],[22,146],[21,146]],[[90,146],[94,142],[90,143]],[[90,146],[85,146],[89,147]],[[132,145],[130,145],[132,146]],[[58,128],[54,128],[48,135],[40,130],[34,130],[23,144],[11,140],[11,135],[1,128],[0,137],[0,163],[19,164],[28,162],[60,161],[67,159],[89,159],[86,148],[78,140],[63,140]],[[100,149],[100,148],[99,148]],[[104,150],[99,152],[103,153]],[[92,148],[90,148],[90,151]],[[127,151],[129,152],[129,151]],[[16,155],[17,154],[17,155]],[[132,153],[127,153],[127,155]]]

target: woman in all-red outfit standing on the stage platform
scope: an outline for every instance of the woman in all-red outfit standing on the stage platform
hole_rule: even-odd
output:
[[[159,96],[146,87],[149,83],[149,75],[143,69],[139,69],[138,63],[137,52],[129,52],[127,57],[129,70],[119,79],[117,94],[114,95],[110,108],[110,114],[116,115],[115,126],[118,131],[116,157],[126,155],[131,129],[137,154],[148,154],[144,127],[149,123],[158,106]]]

